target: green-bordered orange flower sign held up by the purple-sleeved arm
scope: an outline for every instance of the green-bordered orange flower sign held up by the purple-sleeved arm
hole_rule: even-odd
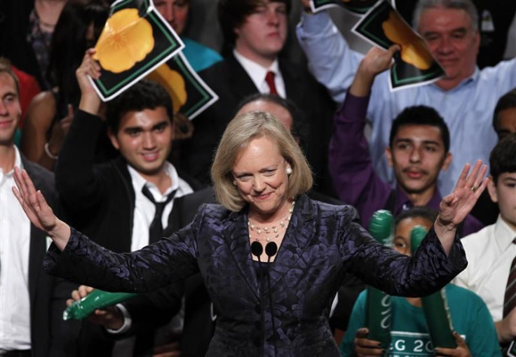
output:
[[[391,67],[391,90],[435,82],[444,70],[419,34],[410,27],[387,0],[379,1],[360,19],[352,31],[369,43],[388,49],[398,44]]]

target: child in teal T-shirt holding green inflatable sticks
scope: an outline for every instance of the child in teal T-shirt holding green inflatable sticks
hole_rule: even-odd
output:
[[[416,225],[429,230],[437,211],[428,207],[412,207],[395,218],[393,248],[411,255],[410,234]],[[428,322],[420,297],[391,297],[391,346],[388,352],[379,342],[367,338],[365,310],[367,293],[362,292],[355,302],[350,324],[341,342],[341,356],[473,356],[497,357],[500,349],[489,310],[475,293],[453,284],[444,287],[451,322],[456,331],[456,349],[432,346]]]

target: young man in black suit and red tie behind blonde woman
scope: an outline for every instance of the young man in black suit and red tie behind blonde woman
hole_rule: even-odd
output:
[[[212,155],[238,103],[250,94],[270,93],[292,100],[305,114],[310,132],[306,157],[315,188],[332,195],[327,151],[335,107],[304,67],[280,56],[290,7],[290,0],[219,1],[219,23],[228,50],[222,62],[199,73],[219,100],[194,118],[194,135],[184,144],[181,165],[191,175],[209,182]]]

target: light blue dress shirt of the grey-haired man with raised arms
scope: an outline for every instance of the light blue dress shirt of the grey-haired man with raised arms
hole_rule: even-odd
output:
[[[342,103],[363,55],[349,48],[325,11],[303,14],[297,37],[315,78],[328,88],[335,102]],[[447,91],[428,84],[391,92],[388,72],[379,74],[367,110],[372,123],[369,148],[374,169],[382,179],[393,182],[384,151],[394,118],[407,106],[433,106],[449,127],[453,160],[447,171],[441,172],[439,188],[444,195],[451,193],[466,162],[473,164],[482,159],[489,163],[489,153],[497,140],[492,127],[494,106],[499,97],[514,87],[516,59],[482,71],[476,69],[472,76]]]

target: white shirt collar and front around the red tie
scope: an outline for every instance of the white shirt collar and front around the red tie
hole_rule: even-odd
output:
[[[287,92],[285,90],[285,81],[283,80],[283,76],[281,76],[280,66],[278,64],[278,59],[274,59],[271,66],[269,68],[265,68],[260,66],[256,62],[252,62],[250,59],[243,57],[240,55],[237,50],[233,50],[233,55],[235,55],[236,60],[243,66],[243,69],[250,76],[252,82],[258,88],[259,92],[262,94],[269,94],[270,88],[267,82],[265,81],[265,76],[267,72],[274,72],[274,84],[276,85],[276,91],[278,95],[282,98],[287,97]]]

